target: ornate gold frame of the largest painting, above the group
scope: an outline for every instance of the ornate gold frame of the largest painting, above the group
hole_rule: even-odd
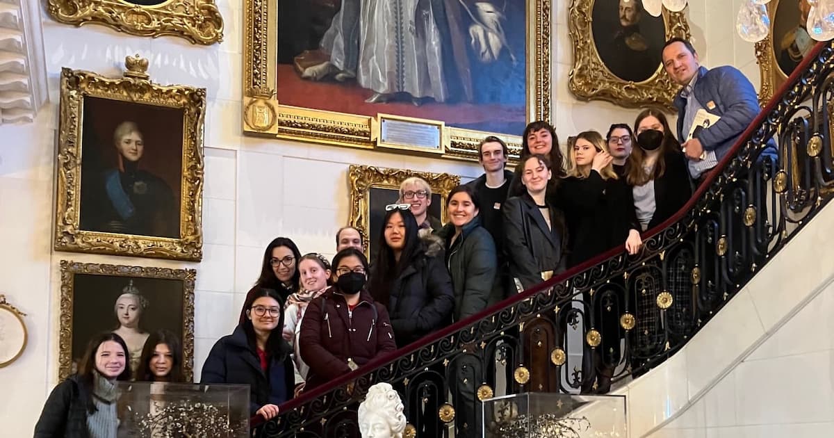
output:
[[[525,0],[527,17],[527,120],[550,120],[550,4]],[[333,113],[282,105],[275,97],[278,58],[278,0],[244,0],[244,133],[336,146],[374,149],[379,120],[349,113]],[[447,126],[447,159],[477,161],[478,143],[495,135],[507,143],[510,158],[521,152],[520,135],[488,133]],[[420,154],[420,150],[412,150]]]

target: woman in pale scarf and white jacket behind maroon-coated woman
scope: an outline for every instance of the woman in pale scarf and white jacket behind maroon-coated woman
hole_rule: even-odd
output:
[[[309,366],[301,360],[299,352],[299,335],[301,321],[309,303],[324,294],[330,279],[330,262],[322,254],[305,254],[299,262],[301,273],[300,291],[287,297],[287,310],[284,310],[284,339],[293,347],[295,363],[295,392],[298,393],[307,380]]]

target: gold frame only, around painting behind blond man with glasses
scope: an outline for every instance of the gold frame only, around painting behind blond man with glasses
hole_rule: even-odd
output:
[[[374,166],[350,165],[348,169],[348,185],[350,188],[349,224],[355,229],[358,229],[359,233],[362,234],[362,244],[366,255],[370,254],[370,249],[368,248],[370,243],[368,234],[370,226],[369,190],[371,188],[399,189],[400,182],[413,176],[425,179],[431,187],[431,192],[433,194],[440,194],[442,201],[440,204],[440,212],[445,217],[446,196],[460,184],[460,176],[418,172],[407,169],[384,169]]]

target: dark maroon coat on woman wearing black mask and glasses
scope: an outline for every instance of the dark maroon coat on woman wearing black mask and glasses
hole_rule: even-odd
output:
[[[362,366],[377,355],[397,349],[384,305],[374,302],[363,290],[359,304],[349,311],[336,286],[307,305],[299,346],[301,360],[310,367],[304,390],[352,371],[349,359]]]

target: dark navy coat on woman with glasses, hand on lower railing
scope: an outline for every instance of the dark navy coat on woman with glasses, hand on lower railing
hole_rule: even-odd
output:
[[[274,330],[273,336],[280,336],[281,329]],[[292,352],[286,341],[286,348],[269,363],[267,373],[260,366],[258,353],[249,345],[246,332],[238,325],[231,335],[220,338],[208,353],[203,364],[202,384],[249,385],[249,413],[254,415],[263,405],[280,405],[293,398],[295,378]]]

